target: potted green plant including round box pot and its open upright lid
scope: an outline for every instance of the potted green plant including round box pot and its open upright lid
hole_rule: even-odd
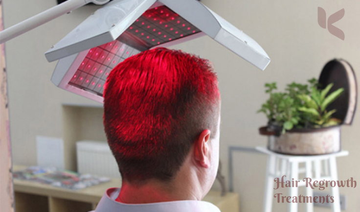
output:
[[[351,125],[357,106],[357,81],[353,68],[343,59],[325,64],[318,80],[291,83],[277,92],[276,83],[265,85],[269,99],[261,106],[268,124],[268,149],[293,155],[338,152],[340,126]]]

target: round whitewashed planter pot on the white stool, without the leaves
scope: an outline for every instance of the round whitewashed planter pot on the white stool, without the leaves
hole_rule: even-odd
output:
[[[340,126],[320,129],[294,129],[279,136],[267,127],[260,128],[261,135],[268,136],[268,149],[290,155],[321,155],[338,152]]]

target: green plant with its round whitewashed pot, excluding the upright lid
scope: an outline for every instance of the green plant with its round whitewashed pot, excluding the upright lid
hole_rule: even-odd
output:
[[[333,117],[337,110],[328,110],[328,106],[344,89],[329,92],[333,86],[320,89],[313,78],[308,84],[293,82],[285,92],[276,92],[276,83],[265,84],[269,99],[258,112],[268,118],[268,125],[259,130],[261,135],[270,136],[268,148],[298,155],[339,151],[341,120]]]

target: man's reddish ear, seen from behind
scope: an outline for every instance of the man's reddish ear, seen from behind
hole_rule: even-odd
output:
[[[209,159],[209,142],[210,130],[204,130],[198,140],[194,142],[194,158],[198,165],[208,168],[210,166]]]

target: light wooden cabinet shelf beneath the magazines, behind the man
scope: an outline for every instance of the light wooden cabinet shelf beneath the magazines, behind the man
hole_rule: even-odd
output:
[[[24,169],[14,165],[13,170]],[[16,212],[89,212],[96,208],[97,203],[107,188],[121,187],[117,178],[96,186],[80,190],[56,188],[46,184],[14,179]],[[239,195],[220,191],[210,191],[204,201],[211,202],[222,212],[239,212]]]

